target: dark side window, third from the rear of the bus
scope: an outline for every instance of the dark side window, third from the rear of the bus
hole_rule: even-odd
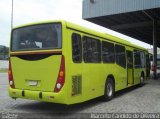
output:
[[[114,44],[109,42],[102,42],[102,59],[104,63],[114,63],[115,53]]]

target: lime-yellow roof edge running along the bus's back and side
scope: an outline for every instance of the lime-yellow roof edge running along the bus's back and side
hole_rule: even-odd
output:
[[[77,30],[77,31],[85,32],[87,34],[91,34],[91,35],[96,36],[96,37],[100,37],[100,38],[103,38],[103,39],[108,39],[112,42],[117,42],[117,43],[120,43],[120,44],[123,44],[123,45],[128,45],[130,47],[134,47],[134,48],[137,48],[137,49],[140,49],[140,50],[145,50],[145,51],[147,50],[143,47],[132,44],[129,41],[118,38],[118,37],[113,36],[111,34],[102,33],[102,32],[92,30],[92,29],[89,29],[89,28],[86,28],[86,27],[82,27],[80,25],[71,23],[71,22],[66,21],[66,20],[51,20],[51,21],[43,21],[43,22],[33,22],[33,23],[30,23],[30,24],[24,24],[24,25],[21,25],[21,26],[18,26],[18,27],[14,27],[13,30],[17,29],[17,28],[25,27],[25,26],[31,26],[31,25],[36,25],[36,24],[44,24],[44,23],[53,23],[53,22],[62,22],[63,24],[66,25],[66,27]]]

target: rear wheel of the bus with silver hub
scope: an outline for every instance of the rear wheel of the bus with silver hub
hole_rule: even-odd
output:
[[[113,98],[114,95],[114,83],[111,78],[108,78],[105,84],[105,93],[104,93],[104,100],[109,101]]]

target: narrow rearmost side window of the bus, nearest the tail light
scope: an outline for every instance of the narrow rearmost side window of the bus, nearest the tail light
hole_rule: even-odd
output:
[[[74,63],[82,62],[82,41],[79,34],[72,34],[72,60]]]

